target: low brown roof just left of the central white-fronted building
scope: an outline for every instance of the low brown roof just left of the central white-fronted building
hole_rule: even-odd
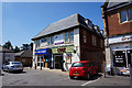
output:
[[[32,57],[33,51],[21,51],[19,53],[15,53],[15,57]]]

